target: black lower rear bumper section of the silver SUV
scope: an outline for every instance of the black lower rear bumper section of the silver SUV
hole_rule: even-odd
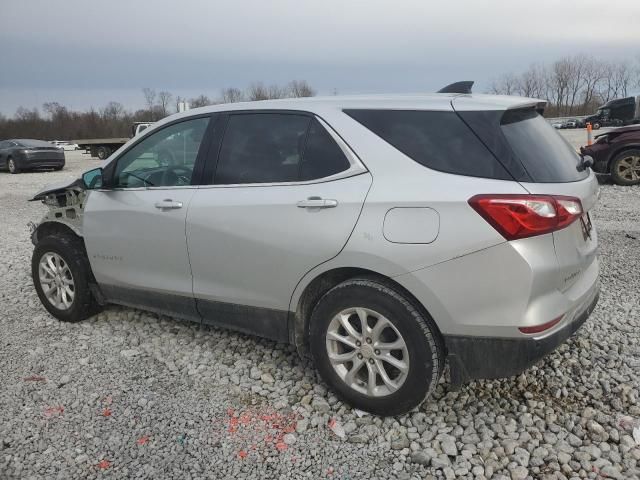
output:
[[[573,320],[544,338],[491,338],[446,335],[451,383],[462,385],[475,379],[512,377],[553,352],[589,318],[600,295],[594,285]]]

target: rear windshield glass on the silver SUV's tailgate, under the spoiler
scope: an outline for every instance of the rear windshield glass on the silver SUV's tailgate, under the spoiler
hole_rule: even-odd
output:
[[[578,153],[535,110],[507,110],[500,130],[532,181],[574,182],[589,175],[578,171]]]

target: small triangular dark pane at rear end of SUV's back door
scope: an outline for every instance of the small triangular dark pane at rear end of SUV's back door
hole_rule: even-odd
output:
[[[324,178],[349,168],[349,160],[327,130],[313,119],[300,166],[300,180]]]

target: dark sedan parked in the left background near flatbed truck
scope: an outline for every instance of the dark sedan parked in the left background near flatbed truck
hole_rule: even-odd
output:
[[[18,139],[0,141],[0,168],[11,173],[35,168],[64,167],[64,150],[42,140]]]

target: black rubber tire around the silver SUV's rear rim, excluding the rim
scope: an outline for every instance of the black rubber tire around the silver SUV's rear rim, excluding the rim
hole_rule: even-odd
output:
[[[393,393],[385,396],[361,393],[347,385],[331,365],[327,331],[339,312],[353,307],[380,313],[405,341],[409,369],[404,382]],[[353,407],[377,415],[406,413],[424,401],[442,374],[444,344],[433,319],[399,291],[377,279],[355,278],[332,288],[318,301],[310,322],[310,350],[316,368],[336,394]]]

